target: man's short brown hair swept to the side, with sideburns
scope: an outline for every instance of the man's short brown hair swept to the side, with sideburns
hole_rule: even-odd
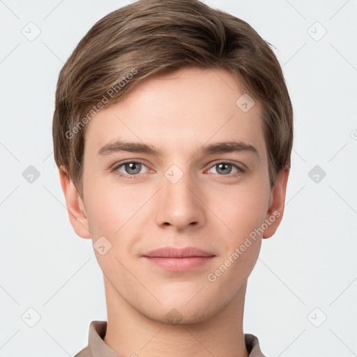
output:
[[[269,45],[247,22],[198,0],[139,0],[109,13],[80,40],[59,74],[52,126],[56,165],[82,197],[84,124],[93,105],[104,98],[116,102],[154,75],[188,66],[223,68],[262,103],[273,187],[278,172],[290,166],[293,109]]]

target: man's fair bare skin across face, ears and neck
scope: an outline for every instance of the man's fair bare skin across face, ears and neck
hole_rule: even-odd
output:
[[[184,68],[146,79],[87,124],[83,199],[60,169],[75,232],[93,243],[105,236],[112,244],[104,255],[94,252],[105,283],[104,341],[122,356],[167,356],[168,351],[173,357],[248,356],[243,337],[247,280],[262,238],[280,225],[289,169],[278,174],[271,189],[261,104],[255,100],[243,112],[236,105],[243,93],[248,92],[227,70]],[[117,139],[162,152],[98,155]],[[203,154],[204,145],[227,141],[250,144],[257,154]],[[133,175],[135,167],[128,165],[111,171],[123,160],[142,161],[139,173]],[[222,171],[218,164],[224,162],[228,166]],[[165,176],[172,165],[183,174],[176,183]],[[279,216],[264,234],[209,281],[208,274],[274,212]],[[142,257],[165,246],[193,246],[215,257],[183,272],[166,271]],[[176,314],[176,323],[169,324],[167,314]]]

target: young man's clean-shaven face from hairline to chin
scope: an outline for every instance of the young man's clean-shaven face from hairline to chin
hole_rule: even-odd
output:
[[[87,124],[82,223],[113,302],[198,322],[241,296],[262,231],[282,214],[261,105],[247,111],[243,93],[226,70],[185,68],[147,79]]]

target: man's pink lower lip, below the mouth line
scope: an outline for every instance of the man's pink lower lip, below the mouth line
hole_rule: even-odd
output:
[[[145,257],[151,263],[166,269],[167,271],[190,271],[191,269],[203,266],[214,257],[187,257],[187,258],[164,258]]]

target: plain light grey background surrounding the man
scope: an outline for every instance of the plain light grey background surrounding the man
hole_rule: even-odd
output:
[[[74,356],[89,323],[107,319],[91,241],[68,220],[52,114],[75,45],[129,2],[0,1],[0,357]],[[244,331],[267,356],[357,356],[357,1],[205,2],[276,47],[294,105],[287,206],[250,276]],[[36,33],[29,22],[41,31],[33,41],[22,34]],[[40,173],[32,183],[29,165]],[[308,175],[315,165],[326,172],[319,182]],[[33,327],[29,308],[40,314]]]

